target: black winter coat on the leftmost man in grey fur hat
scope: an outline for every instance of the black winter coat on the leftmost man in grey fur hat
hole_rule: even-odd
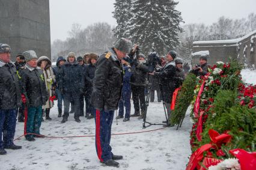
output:
[[[20,107],[21,94],[19,78],[14,64],[0,63],[0,110]]]

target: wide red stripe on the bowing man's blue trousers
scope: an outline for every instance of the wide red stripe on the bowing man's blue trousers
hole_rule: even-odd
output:
[[[96,145],[97,145],[97,155],[100,159],[100,162],[103,162],[102,146],[100,145],[100,111],[99,110],[96,110]]]

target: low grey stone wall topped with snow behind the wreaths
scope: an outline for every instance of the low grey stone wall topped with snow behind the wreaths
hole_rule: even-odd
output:
[[[198,63],[201,55],[209,55],[208,63],[217,61],[229,62],[229,58],[237,59],[247,68],[256,66],[256,30],[242,38],[234,40],[195,41],[193,43],[192,64]]]

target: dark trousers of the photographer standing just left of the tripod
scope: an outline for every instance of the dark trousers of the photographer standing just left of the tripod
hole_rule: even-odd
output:
[[[132,86],[132,100],[135,113],[139,113],[139,106],[141,112],[145,111],[145,87]]]

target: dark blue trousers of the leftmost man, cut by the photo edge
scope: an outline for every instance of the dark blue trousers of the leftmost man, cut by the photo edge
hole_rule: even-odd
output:
[[[0,110],[0,148],[13,145],[17,109]],[[3,136],[3,137],[2,137]],[[3,138],[3,140],[2,140]]]

